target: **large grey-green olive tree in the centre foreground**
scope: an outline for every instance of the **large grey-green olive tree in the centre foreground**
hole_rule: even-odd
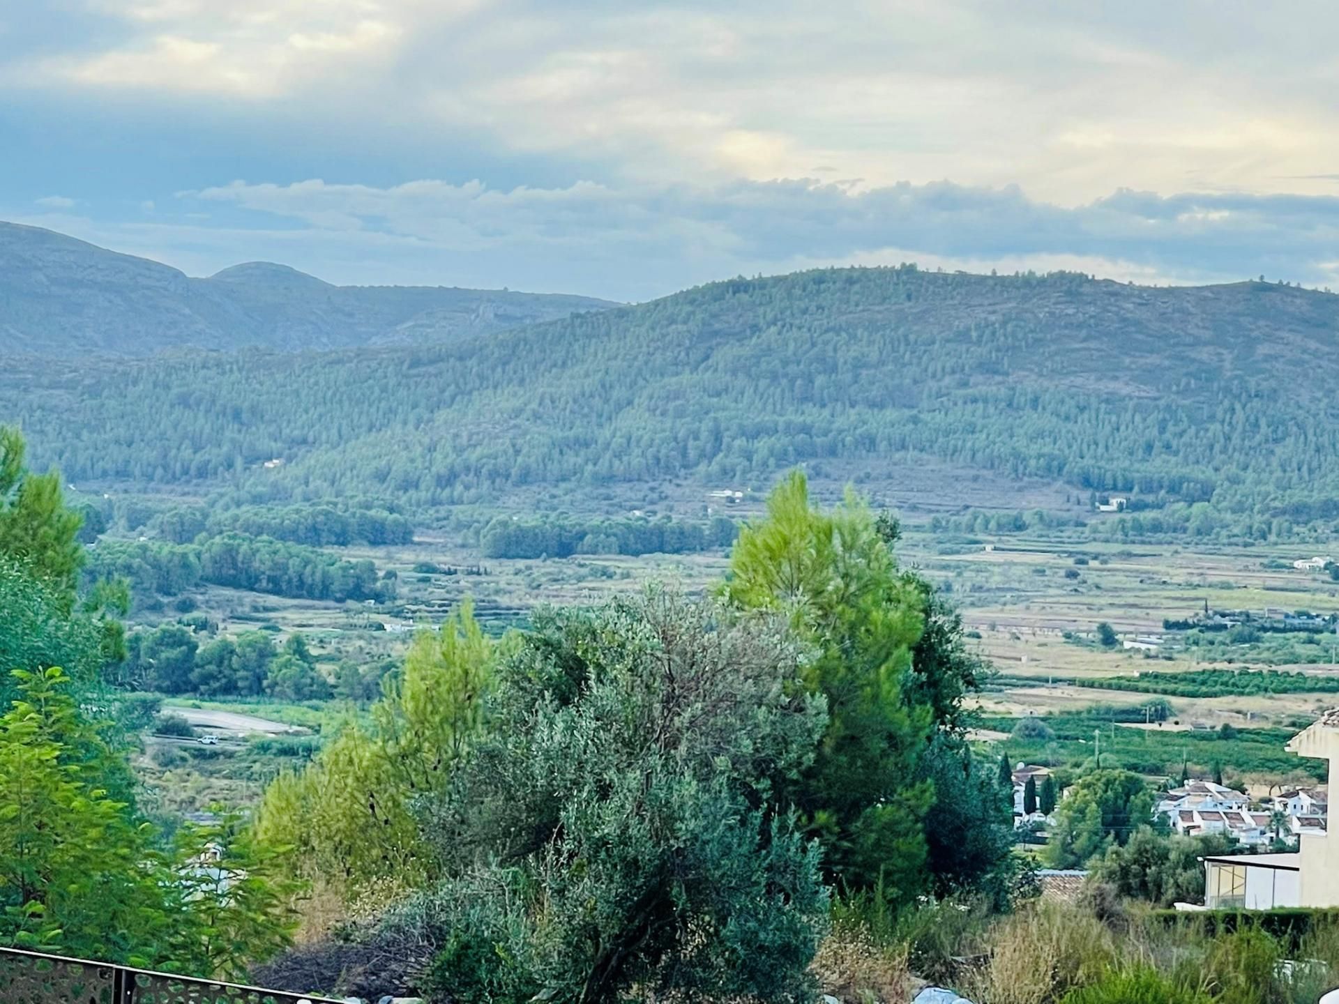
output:
[[[825,723],[798,656],[783,624],[663,592],[540,614],[428,815],[434,989],[809,1000],[828,893],[777,805]]]

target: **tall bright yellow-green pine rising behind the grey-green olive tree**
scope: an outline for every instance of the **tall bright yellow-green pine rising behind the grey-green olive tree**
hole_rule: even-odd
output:
[[[803,684],[828,700],[828,735],[814,764],[787,787],[828,873],[907,902],[925,882],[923,821],[933,786],[917,763],[933,732],[929,705],[909,705],[921,594],[897,573],[869,509],[848,493],[823,513],[805,475],[767,499],[767,518],[735,543],[726,594],[738,609],[786,617],[817,655]]]

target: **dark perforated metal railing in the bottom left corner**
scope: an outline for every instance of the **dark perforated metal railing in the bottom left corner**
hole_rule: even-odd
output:
[[[129,965],[0,948],[4,1004],[339,1004],[217,980],[155,973]]]

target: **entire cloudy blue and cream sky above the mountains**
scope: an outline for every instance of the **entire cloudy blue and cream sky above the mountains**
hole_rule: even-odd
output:
[[[0,0],[0,220],[648,300],[916,261],[1339,288],[1339,5]]]

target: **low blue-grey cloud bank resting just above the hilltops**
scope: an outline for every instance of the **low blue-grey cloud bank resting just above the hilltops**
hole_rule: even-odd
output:
[[[738,273],[890,260],[979,270],[1063,266],[1164,282],[1263,272],[1324,285],[1336,282],[1339,246],[1339,197],[1121,190],[1066,207],[1016,186],[948,182],[494,190],[478,181],[375,187],[312,179],[233,182],[181,198],[256,221],[288,221],[299,228],[295,244],[366,245],[391,260],[412,253],[420,268],[465,269],[471,282],[615,299],[648,299]],[[343,265],[321,270],[331,272],[358,281]],[[416,281],[426,281],[422,270]]]

